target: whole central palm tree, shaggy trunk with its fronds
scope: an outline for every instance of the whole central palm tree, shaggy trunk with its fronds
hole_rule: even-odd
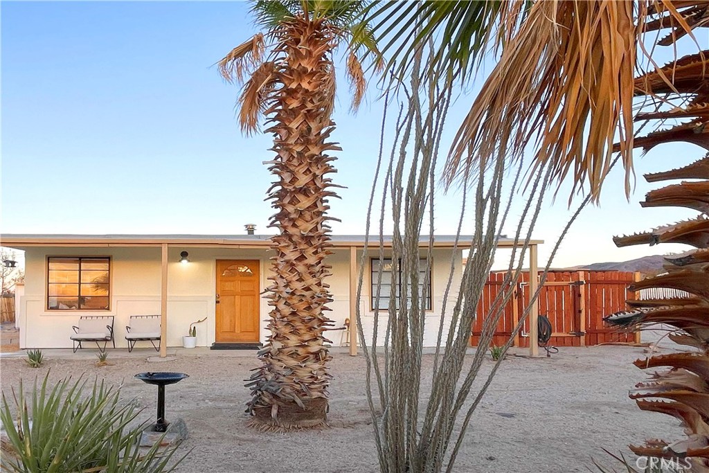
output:
[[[218,62],[228,82],[245,80],[238,101],[239,121],[253,133],[262,116],[274,136],[275,153],[266,164],[275,182],[269,199],[276,213],[270,226],[273,275],[267,288],[271,335],[259,352],[263,365],[253,374],[247,411],[264,428],[313,427],[328,411],[328,350],[324,311],[332,301],[325,277],[330,227],[328,198],[336,196],[328,174],[339,151],[330,141],[335,129],[335,50],[345,49],[352,106],[362,101],[366,82],[360,45],[373,49],[359,19],[364,1],[255,1],[252,13],[267,33],[259,33]]]

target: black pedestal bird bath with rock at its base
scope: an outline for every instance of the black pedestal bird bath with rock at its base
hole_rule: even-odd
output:
[[[187,426],[182,418],[172,423],[165,421],[165,386],[180,382],[189,376],[184,373],[147,372],[136,374],[135,377],[147,384],[157,385],[157,421],[143,430],[140,446],[150,447],[157,441],[162,445],[169,445],[186,439]]]

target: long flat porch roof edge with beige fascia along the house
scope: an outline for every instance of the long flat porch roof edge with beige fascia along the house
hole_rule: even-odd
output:
[[[0,235],[0,245],[19,250],[24,247],[233,247],[267,248],[273,235],[69,235],[69,234],[5,234]],[[330,235],[333,247],[364,247],[364,235]],[[457,246],[471,246],[471,235],[461,235]],[[384,235],[384,246],[391,246],[391,235]],[[434,247],[453,247],[455,235],[434,235]],[[540,245],[543,240],[530,240],[530,245]],[[428,246],[428,236],[420,238],[422,247]],[[379,246],[379,235],[369,237],[368,247]],[[513,247],[513,238],[501,237],[498,247]]]

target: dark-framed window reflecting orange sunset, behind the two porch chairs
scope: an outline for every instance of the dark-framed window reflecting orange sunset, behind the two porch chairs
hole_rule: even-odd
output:
[[[110,301],[111,258],[47,258],[48,310],[108,311]]]

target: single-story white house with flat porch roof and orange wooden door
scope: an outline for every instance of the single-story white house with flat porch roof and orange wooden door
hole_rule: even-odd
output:
[[[125,325],[130,316],[162,316],[164,348],[182,346],[190,323],[196,325],[197,345],[264,343],[269,306],[263,291],[269,284],[270,235],[2,235],[1,245],[25,252],[25,290],[18,302],[21,348],[72,347],[72,325],[80,316],[114,318],[116,347],[127,347]],[[362,235],[333,235],[333,267],[328,277],[333,302],[328,316],[335,327],[354,321],[357,278],[364,250]],[[364,257],[364,284],[359,308],[365,333],[372,333],[374,316],[372,274],[379,265],[379,238],[369,239]],[[531,242],[530,263],[536,266]],[[500,247],[513,247],[509,238]],[[384,243],[385,255],[391,240]],[[422,255],[428,238],[421,241]],[[469,238],[455,245],[454,236],[436,236],[430,277],[430,324],[426,345],[434,346],[445,286],[454,262],[453,288],[462,274]],[[533,261],[532,261],[533,260]],[[384,267],[384,278],[389,265]],[[389,269],[390,271],[391,269]],[[386,307],[382,290],[380,308]],[[451,291],[447,310],[452,310]],[[381,314],[381,312],[380,312]],[[386,316],[386,311],[384,311]],[[340,345],[342,332],[331,332]],[[352,340],[356,333],[352,332]],[[354,354],[357,344],[350,344]],[[150,347],[139,342],[138,347]]]

